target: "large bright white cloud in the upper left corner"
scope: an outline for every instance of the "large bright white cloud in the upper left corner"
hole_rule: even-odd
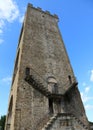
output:
[[[14,0],[0,0],[0,34],[6,22],[13,22],[19,17],[19,9]]]

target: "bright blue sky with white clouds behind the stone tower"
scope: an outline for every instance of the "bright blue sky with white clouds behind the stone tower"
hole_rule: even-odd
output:
[[[0,0],[0,116],[7,112],[16,48],[27,3],[58,15],[86,114],[93,121],[93,0]]]

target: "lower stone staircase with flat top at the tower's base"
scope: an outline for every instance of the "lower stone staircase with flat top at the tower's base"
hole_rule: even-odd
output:
[[[55,114],[41,130],[88,130],[78,118],[70,113]]]

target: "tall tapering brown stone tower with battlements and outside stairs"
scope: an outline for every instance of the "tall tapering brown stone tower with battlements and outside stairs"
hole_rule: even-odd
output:
[[[88,120],[58,17],[28,4],[5,130],[86,130]]]

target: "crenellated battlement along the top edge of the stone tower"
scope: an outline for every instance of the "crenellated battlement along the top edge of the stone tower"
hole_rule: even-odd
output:
[[[50,16],[56,18],[56,19],[59,19],[56,14],[51,14],[51,13],[50,13],[49,11],[47,11],[47,10],[44,11],[44,10],[42,10],[42,8],[40,8],[40,7],[34,7],[33,4],[28,3],[28,7],[33,8],[33,9],[35,9],[35,10],[38,10],[38,11],[40,11],[40,12],[43,12],[44,14],[50,15]]]

